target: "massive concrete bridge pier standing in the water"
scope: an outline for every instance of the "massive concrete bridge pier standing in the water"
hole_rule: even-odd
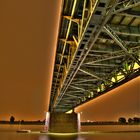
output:
[[[52,133],[75,133],[80,130],[80,114],[51,112],[47,113],[46,126]]]

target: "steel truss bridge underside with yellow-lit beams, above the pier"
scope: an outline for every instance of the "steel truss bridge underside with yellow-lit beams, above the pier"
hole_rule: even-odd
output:
[[[139,75],[140,0],[63,0],[51,112],[67,112]]]

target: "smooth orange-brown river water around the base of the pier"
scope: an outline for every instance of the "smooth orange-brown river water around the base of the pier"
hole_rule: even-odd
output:
[[[78,134],[40,133],[41,125],[1,125],[0,140],[139,140],[140,125],[95,125],[82,126]],[[31,133],[17,133],[30,129]]]

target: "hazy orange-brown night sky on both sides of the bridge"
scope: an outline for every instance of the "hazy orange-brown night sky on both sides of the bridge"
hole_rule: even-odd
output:
[[[61,0],[0,1],[0,120],[44,120],[48,110]],[[82,120],[139,110],[139,81],[79,108]]]

